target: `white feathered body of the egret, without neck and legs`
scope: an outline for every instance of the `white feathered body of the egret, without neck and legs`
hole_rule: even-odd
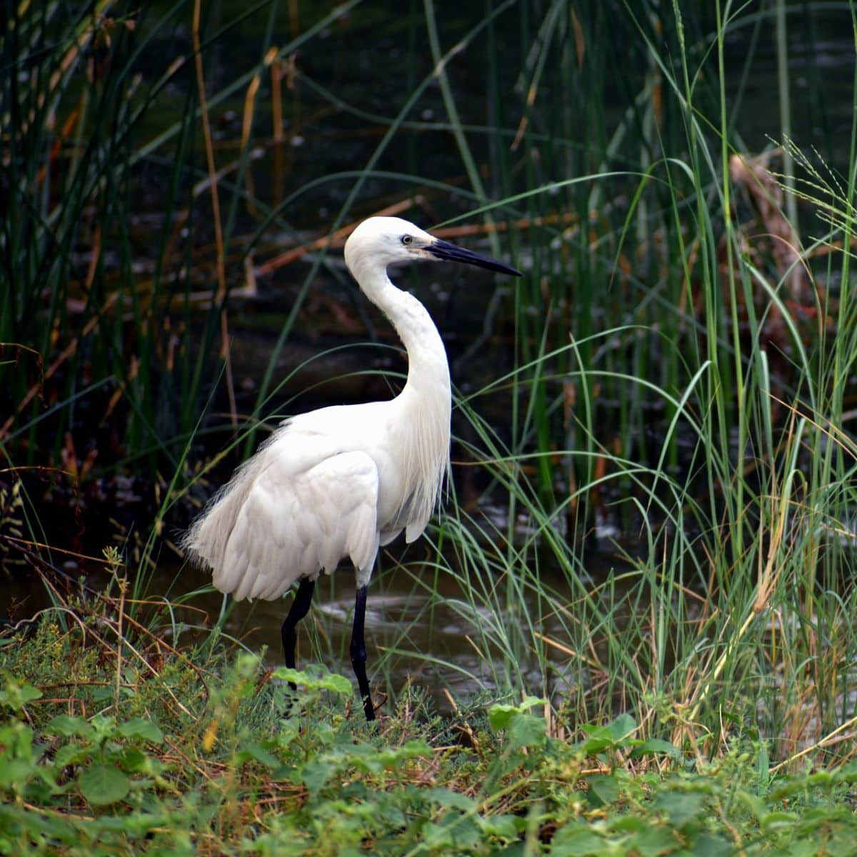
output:
[[[419,432],[406,399],[322,408],[278,428],[184,540],[214,585],[237,599],[276,598],[345,558],[366,583],[379,543],[405,528],[409,541],[419,536],[431,509],[417,496]],[[446,427],[448,449],[448,416]]]

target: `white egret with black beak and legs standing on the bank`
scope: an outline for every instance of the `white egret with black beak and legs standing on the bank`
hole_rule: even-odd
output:
[[[387,277],[409,261],[450,260],[522,276],[513,267],[442,241],[407,220],[364,220],[345,243],[345,265],[405,345],[408,377],[394,399],[334,405],[281,423],[213,497],[183,539],[214,585],[237,599],[282,596],[298,581],[283,622],[285,663],[295,666],[297,623],[315,580],[346,557],[357,573],[351,665],[366,719],[366,592],[380,545],[405,530],[413,542],[440,498],[449,464],[452,397],[446,351],[428,311]]]

